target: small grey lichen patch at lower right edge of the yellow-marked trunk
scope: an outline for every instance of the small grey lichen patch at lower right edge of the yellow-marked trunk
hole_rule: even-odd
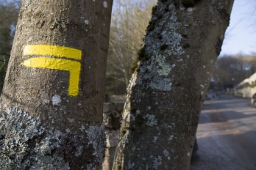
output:
[[[89,142],[88,145],[93,145],[93,156],[96,157],[94,163],[91,163],[92,167],[96,167],[96,165],[103,163],[104,155],[106,152],[106,135],[104,131],[104,123],[100,127],[98,126],[90,126],[88,130],[85,130],[87,133]]]

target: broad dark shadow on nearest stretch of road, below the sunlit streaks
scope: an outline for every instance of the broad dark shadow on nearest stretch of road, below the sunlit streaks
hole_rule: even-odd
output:
[[[255,142],[244,136],[255,136],[256,131],[241,135],[207,136],[197,138],[201,166],[191,166],[191,170],[241,170],[256,169]]]

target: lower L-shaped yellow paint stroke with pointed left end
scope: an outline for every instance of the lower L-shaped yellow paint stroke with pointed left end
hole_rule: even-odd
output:
[[[79,92],[79,75],[81,63],[68,59],[51,59],[47,57],[37,57],[24,60],[21,63],[26,67],[48,68],[64,70],[70,72],[68,95],[77,96]]]

